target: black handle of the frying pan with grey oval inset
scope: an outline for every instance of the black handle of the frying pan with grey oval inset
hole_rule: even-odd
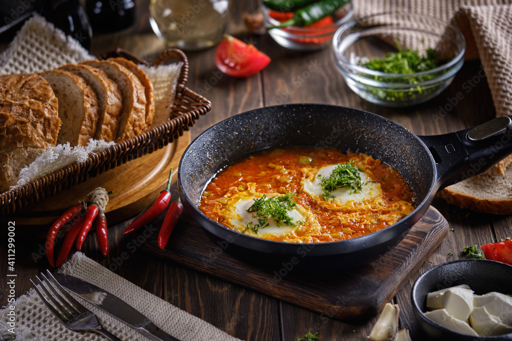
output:
[[[443,135],[420,136],[437,169],[438,190],[482,174],[512,153],[511,117]]]

